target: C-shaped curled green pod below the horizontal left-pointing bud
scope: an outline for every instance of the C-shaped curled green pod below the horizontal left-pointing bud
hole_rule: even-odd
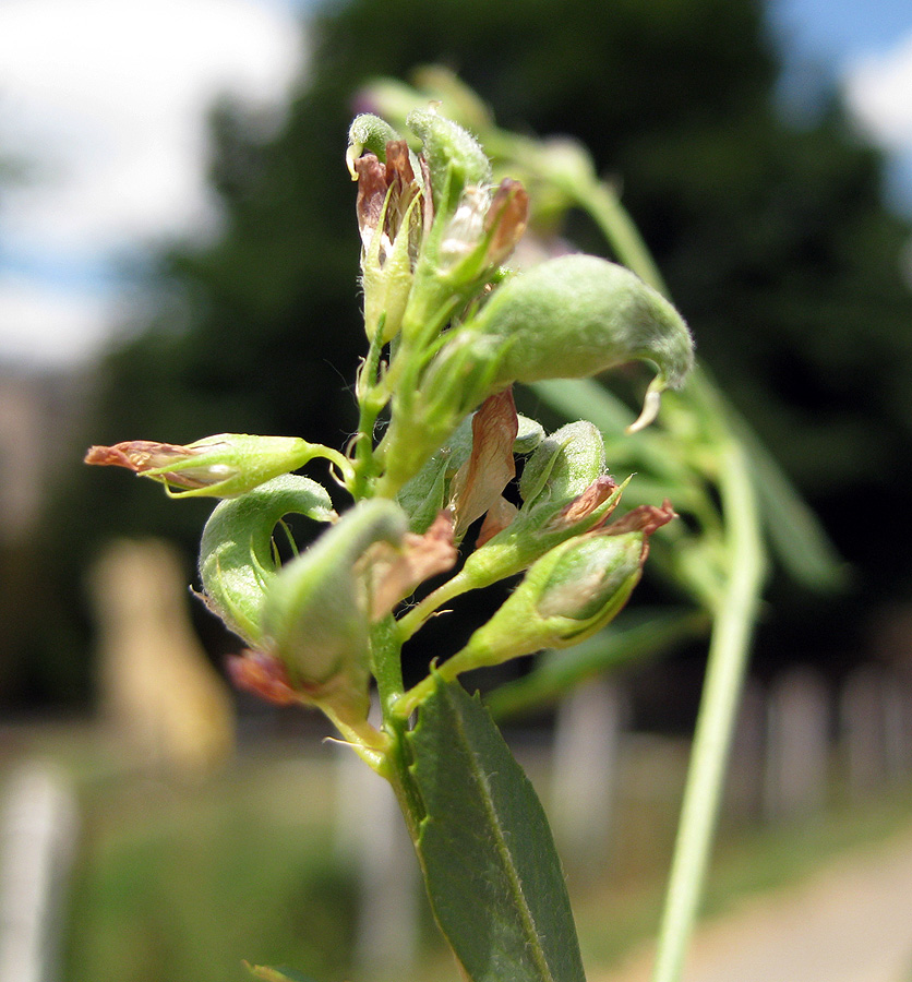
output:
[[[278,568],[273,531],[286,515],[305,515],[316,522],[336,517],[322,484],[285,475],[223,501],[203,530],[200,576],[204,599],[250,645],[262,637],[263,600]]]

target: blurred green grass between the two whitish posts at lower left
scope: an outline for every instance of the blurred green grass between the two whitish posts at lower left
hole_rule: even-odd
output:
[[[231,982],[244,959],[343,978],[355,885],[329,778],[319,761],[248,761],[196,788],[88,788],[68,982]]]

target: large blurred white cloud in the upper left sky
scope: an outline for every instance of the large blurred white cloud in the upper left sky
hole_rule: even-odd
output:
[[[36,165],[4,236],[105,250],[199,227],[207,106],[276,100],[300,50],[288,9],[262,0],[4,0],[0,147]]]

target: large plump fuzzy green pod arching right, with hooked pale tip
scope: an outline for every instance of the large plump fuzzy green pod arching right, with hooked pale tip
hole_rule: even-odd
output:
[[[469,366],[495,364],[484,379],[489,388],[468,396],[477,404],[513,382],[581,379],[635,360],[657,369],[635,424],[641,427],[655,417],[659,393],[681,385],[691,370],[689,331],[671,303],[629,270],[566,255],[494,290],[443,349],[427,383],[445,387],[452,373],[467,378]]]

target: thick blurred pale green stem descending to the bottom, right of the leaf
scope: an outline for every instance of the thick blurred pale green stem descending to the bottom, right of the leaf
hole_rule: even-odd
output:
[[[704,695],[677,830],[652,982],[681,979],[706,878],[728,752],[764,577],[757,503],[742,448],[720,451],[719,490],[727,517],[730,578],[709,645]]]

